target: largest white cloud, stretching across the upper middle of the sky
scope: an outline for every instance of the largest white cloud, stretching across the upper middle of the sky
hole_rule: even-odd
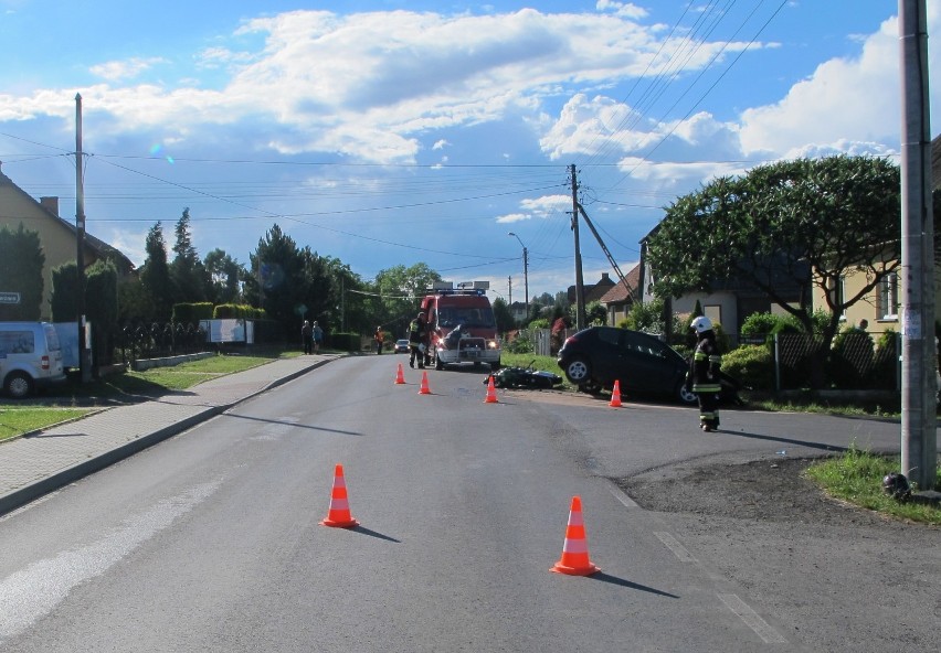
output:
[[[634,4],[602,0],[598,9],[292,11],[247,20],[231,42],[194,53],[193,68],[179,75],[193,81],[211,71],[211,84],[121,84],[160,63],[156,58],[95,66],[109,83],[94,89],[96,110],[113,111],[113,127],[128,131],[173,125],[194,138],[204,125],[244,121],[253,129],[241,137],[254,135],[245,143],[252,149],[411,161],[423,133],[508,116],[538,121],[547,98],[644,74],[657,53],[680,47],[679,39],[664,43],[641,24],[645,12]],[[744,44],[705,43],[683,69],[701,68],[723,47]],[[0,117],[47,111],[43,99],[0,96]]]

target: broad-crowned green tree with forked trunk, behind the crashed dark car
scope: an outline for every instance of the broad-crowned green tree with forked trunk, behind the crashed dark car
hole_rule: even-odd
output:
[[[717,179],[668,206],[651,236],[655,292],[679,297],[747,280],[813,333],[816,286],[831,315],[821,334],[821,351],[828,352],[839,317],[899,267],[899,189],[898,167],[868,157],[782,161]],[[843,297],[849,274],[866,282]],[[803,301],[789,302],[779,291],[785,283],[800,287]],[[823,382],[822,368],[814,385]]]

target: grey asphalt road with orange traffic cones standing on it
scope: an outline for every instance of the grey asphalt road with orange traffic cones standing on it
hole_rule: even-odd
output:
[[[408,366],[392,383],[399,362],[337,361],[0,518],[0,649],[884,650],[840,619],[879,597],[828,588],[807,604],[829,614],[784,610],[760,571],[728,570],[715,533],[641,510],[613,480],[897,448],[897,425],[734,411],[706,436],[669,405],[485,404],[480,373],[431,371],[421,395]],[[338,463],[357,528],[318,524]],[[586,578],[549,572],[575,495],[602,569]]]

